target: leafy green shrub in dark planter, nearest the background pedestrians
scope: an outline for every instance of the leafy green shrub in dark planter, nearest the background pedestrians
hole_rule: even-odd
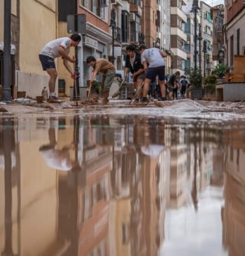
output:
[[[190,93],[190,99],[200,100],[202,99],[202,72],[200,69],[190,68],[188,70],[190,86],[188,91]]]

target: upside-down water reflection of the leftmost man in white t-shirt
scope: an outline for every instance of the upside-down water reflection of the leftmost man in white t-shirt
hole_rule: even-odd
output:
[[[47,165],[57,170],[71,170],[73,165],[71,163],[69,149],[71,149],[73,144],[62,147],[62,149],[56,149],[55,128],[52,125],[48,130],[48,138],[49,144],[45,144],[39,148]]]

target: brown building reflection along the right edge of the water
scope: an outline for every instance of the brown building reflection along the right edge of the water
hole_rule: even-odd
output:
[[[230,130],[225,136],[225,206],[222,209],[223,243],[229,255],[244,255],[245,233],[245,147],[244,128]]]

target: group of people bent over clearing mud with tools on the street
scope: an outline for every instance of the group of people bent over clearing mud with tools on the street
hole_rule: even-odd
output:
[[[76,79],[76,72],[71,68],[69,62],[74,63],[75,59],[69,57],[70,48],[78,46],[81,38],[79,34],[72,34],[69,37],[55,39],[47,43],[39,54],[39,59],[43,70],[48,72],[50,80],[49,88],[49,102],[59,102],[55,95],[55,82],[57,79],[57,69],[55,67],[55,58],[62,57],[64,67],[71,74],[73,79]],[[165,101],[171,98],[169,94],[175,93],[176,83],[179,83],[179,72],[173,74],[166,86],[165,76],[165,58],[167,53],[159,48],[146,48],[145,45],[140,45],[136,50],[135,46],[129,45],[126,47],[127,58],[125,61],[124,78],[127,79],[129,73],[132,74],[134,88],[137,90],[137,97],[135,102],[140,105],[147,105],[148,92],[152,81],[158,80],[160,86],[159,100]],[[113,78],[116,76],[116,67],[103,58],[95,59],[94,56],[87,57],[87,65],[92,67],[92,75],[90,83],[94,81],[97,74],[102,73],[102,102],[106,104],[109,102],[109,90],[113,83]],[[168,92],[168,95],[167,95]],[[167,97],[168,96],[168,97]]]

